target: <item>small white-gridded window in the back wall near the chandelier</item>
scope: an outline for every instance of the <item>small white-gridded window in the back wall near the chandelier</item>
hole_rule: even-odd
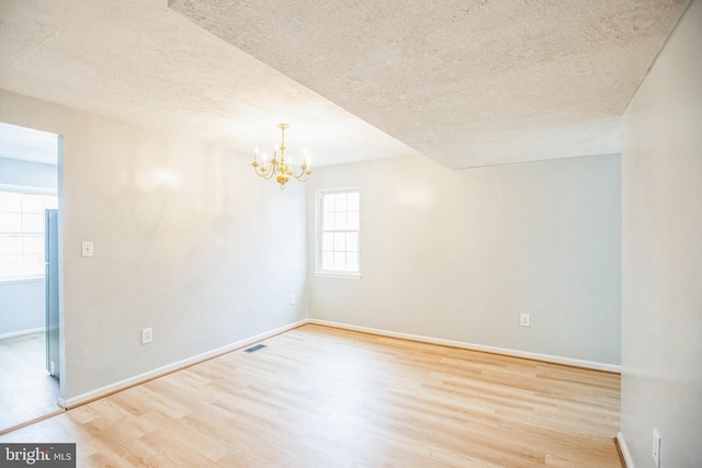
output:
[[[317,197],[317,272],[359,275],[359,190],[322,191]]]

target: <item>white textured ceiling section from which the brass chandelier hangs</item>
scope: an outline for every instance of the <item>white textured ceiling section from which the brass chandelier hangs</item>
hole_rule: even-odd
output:
[[[0,0],[0,88],[246,157],[272,152],[279,122],[313,167],[417,153],[165,0]]]

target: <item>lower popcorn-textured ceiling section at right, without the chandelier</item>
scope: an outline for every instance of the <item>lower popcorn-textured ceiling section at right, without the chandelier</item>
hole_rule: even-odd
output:
[[[619,152],[684,1],[178,0],[171,8],[450,168]]]

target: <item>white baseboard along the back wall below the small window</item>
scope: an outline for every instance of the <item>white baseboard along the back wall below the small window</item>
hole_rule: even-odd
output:
[[[363,333],[378,334],[383,336],[399,338],[403,340],[419,341],[422,343],[441,344],[443,346],[460,347],[460,349],[472,350],[472,351],[483,351],[486,353],[503,354],[503,355],[513,356],[513,357],[524,357],[528,359],[543,361],[546,363],[554,363],[554,364],[563,364],[566,366],[584,367],[584,368],[595,369],[595,370],[604,370],[604,372],[615,373],[615,374],[621,374],[622,372],[622,366],[620,365],[598,363],[595,361],[575,359],[571,357],[554,356],[551,354],[531,353],[528,351],[510,350],[507,347],[486,346],[483,344],[473,344],[473,343],[465,343],[462,341],[443,340],[440,338],[423,336],[419,334],[399,333],[395,331],[380,330],[380,329],[374,329],[369,327],[358,327],[358,326],[351,326],[348,323],[332,322],[328,320],[309,319],[309,323],[341,328],[341,329],[347,329],[352,331],[360,331]]]

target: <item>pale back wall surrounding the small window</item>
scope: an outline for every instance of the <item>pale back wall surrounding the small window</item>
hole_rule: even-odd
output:
[[[310,317],[620,364],[620,158],[449,171],[397,158],[320,168],[361,189],[362,278],[310,275]],[[314,237],[308,244],[314,265]],[[531,313],[531,328],[519,313]]]

